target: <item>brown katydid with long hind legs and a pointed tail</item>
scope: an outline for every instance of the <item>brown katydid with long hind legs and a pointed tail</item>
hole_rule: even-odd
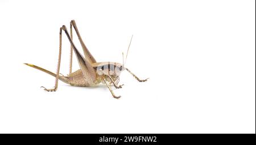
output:
[[[84,56],[77,50],[75,44],[73,43],[73,36],[72,36],[72,28],[75,29],[77,37],[79,38],[80,44],[82,46],[82,50],[84,51]],[[64,76],[60,75],[60,60],[61,60],[61,35],[62,31],[65,32],[65,34],[68,37],[69,42],[71,43],[71,57],[70,57],[70,63],[69,63],[69,75]],[[89,50],[86,48],[84,42],[81,39],[80,33],[77,29],[75,20],[71,20],[70,22],[70,33],[69,35],[67,28],[65,25],[60,27],[60,46],[59,46],[59,59],[57,62],[57,72],[54,74],[51,71],[45,70],[39,66],[31,65],[29,63],[24,63],[27,66],[34,67],[35,69],[41,70],[43,72],[46,72],[49,75],[54,76],[55,79],[55,87],[52,89],[44,88],[45,91],[52,92],[56,91],[58,87],[58,80],[61,80],[64,83],[71,84],[71,86],[96,86],[100,83],[105,83],[106,86],[109,88],[109,91],[112,93],[112,96],[116,99],[118,99],[121,96],[115,96],[114,92],[112,91],[112,88],[110,86],[114,86],[115,88],[122,88],[123,85],[118,86],[119,83],[119,76],[123,70],[127,70],[130,72],[131,75],[133,75],[139,82],[145,82],[147,79],[141,80],[136,75],[133,74],[129,69],[125,67],[125,62],[123,58],[123,63],[117,63],[117,62],[96,62],[96,59],[90,54]],[[131,40],[133,37],[131,37]],[[131,41],[130,41],[131,44]],[[129,47],[127,49],[127,53],[129,52]],[[79,62],[80,69],[72,72],[72,54],[73,51],[76,54],[77,61]],[[126,59],[127,59],[127,53],[126,53]],[[123,55],[123,53],[122,53]]]

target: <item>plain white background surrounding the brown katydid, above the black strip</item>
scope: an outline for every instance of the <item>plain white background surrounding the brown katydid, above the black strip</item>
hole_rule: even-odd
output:
[[[55,72],[59,28],[75,19],[98,62],[122,62],[105,86]],[[1,1],[0,133],[255,133],[255,1]],[[76,46],[79,45],[75,37]],[[63,37],[60,72],[68,74]],[[79,69],[76,58],[73,70]]]

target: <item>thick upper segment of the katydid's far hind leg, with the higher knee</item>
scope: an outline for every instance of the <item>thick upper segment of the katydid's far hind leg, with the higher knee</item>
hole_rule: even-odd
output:
[[[79,38],[79,41],[82,46],[82,50],[84,51],[84,56],[85,56],[86,60],[89,61],[89,63],[95,63],[96,62],[95,58],[92,56],[92,54],[90,54],[89,50],[86,48],[84,41],[82,41],[82,38],[81,38],[79,30],[76,26],[75,20],[71,20],[71,22],[70,22],[71,33],[72,33],[72,26],[74,27],[74,29],[76,31],[76,35]]]

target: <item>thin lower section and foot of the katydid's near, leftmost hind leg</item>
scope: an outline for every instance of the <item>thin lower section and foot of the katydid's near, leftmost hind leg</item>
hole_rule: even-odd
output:
[[[48,91],[48,92],[52,92],[52,91],[56,91],[57,87],[58,87],[58,81],[59,81],[59,74],[60,74],[60,59],[61,59],[61,44],[62,44],[62,37],[61,37],[61,33],[62,33],[62,28],[60,28],[60,46],[59,46],[59,58],[58,58],[58,63],[57,63],[57,72],[56,72],[56,78],[55,78],[55,86],[52,89],[47,89],[46,87],[41,87],[44,88],[44,90]]]

